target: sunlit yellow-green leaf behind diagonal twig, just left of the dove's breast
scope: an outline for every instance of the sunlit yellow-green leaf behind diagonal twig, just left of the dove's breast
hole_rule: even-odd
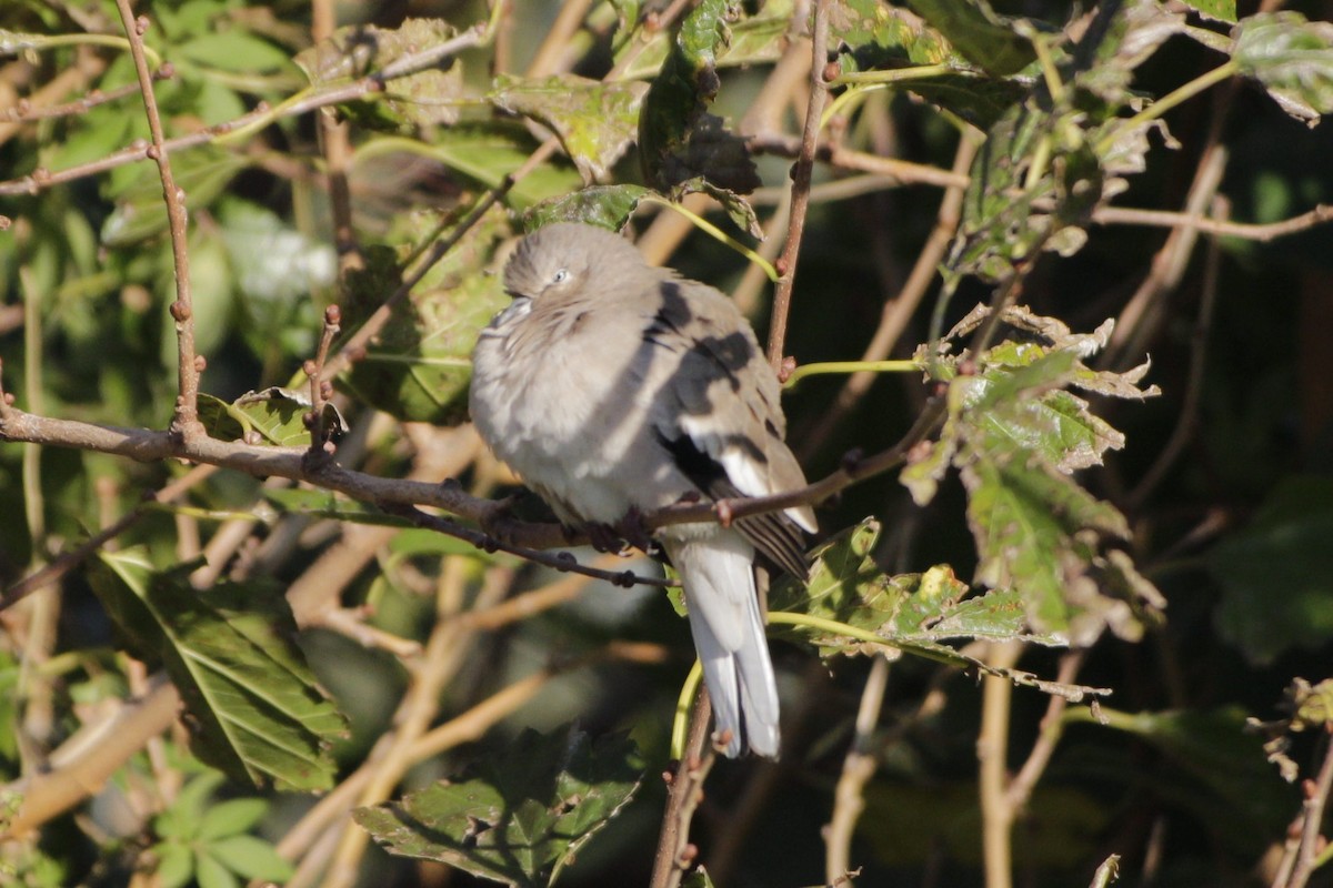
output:
[[[395,305],[365,358],[344,378],[344,389],[400,419],[461,422],[472,379],[472,347],[481,329],[509,301],[500,276],[487,273],[508,233],[504,209],[492,208],[408,298]],[[365,270],[348,280],[352,296],[344,329],[355,329],[393,292],[396,284],[389,282],[400,280],[396,265],[388,250],[367,252]]]

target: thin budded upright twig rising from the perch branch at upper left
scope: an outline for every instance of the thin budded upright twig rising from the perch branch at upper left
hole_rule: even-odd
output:
[[[148,16],[135,19],[129,0],[116,0],[120,21],[129,39],[129,53],[135,59],[139,73],[139,91],[144,96],[144,112],[148,114],[148,130],[152,144],[147,156],[157,162],[157,176],[163,181],[163,200],[167,202],[167,218],[171,229],[171,254],[176,274],[176,301],[171,304],[171,316],[176,322],[176,374],[177,397],[172,415],[172,431],[181,438],[195,438],[204,433],[199,422],[199,374],[204,370],[203,359],[195,355],[195,305],[189,293],[189,250],[185,246],[185,192],[176,186],[171,172],[171,157],[167,137],[163,134],[161,116],[157,113],[157,97],[153,95],[153,75],[148,71],[144,55],[144,32],[148,31]]]

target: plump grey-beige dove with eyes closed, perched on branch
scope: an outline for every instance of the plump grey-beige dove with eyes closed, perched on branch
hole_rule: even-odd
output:
[[[571,525],[615,525],[681,499],[805,485],[778,385],[734,304],[647,265],[605,229],[529,234],[504,272],[513,302],[472,354],[472,418]],[[777,686],[756,554],[805,579],[809,507],[660,531],[680,572],[726,755],[778,751]]]

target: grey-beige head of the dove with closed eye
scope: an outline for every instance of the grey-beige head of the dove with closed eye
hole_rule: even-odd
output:
[[[617,282],[623,273],[644,268],[635,245],[604,228],[556,222],[523,238],[504,268],[509,296],[537,300],[543,296],[581,294],[596,274]],[[593,288],[593,293],[613,288]]]

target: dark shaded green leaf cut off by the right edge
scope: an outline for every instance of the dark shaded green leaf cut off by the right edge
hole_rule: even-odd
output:
[[[1222,588],[1217,628],[1256,664],[1333,638],[1333,479],[1282,479],[1208,568]]]

